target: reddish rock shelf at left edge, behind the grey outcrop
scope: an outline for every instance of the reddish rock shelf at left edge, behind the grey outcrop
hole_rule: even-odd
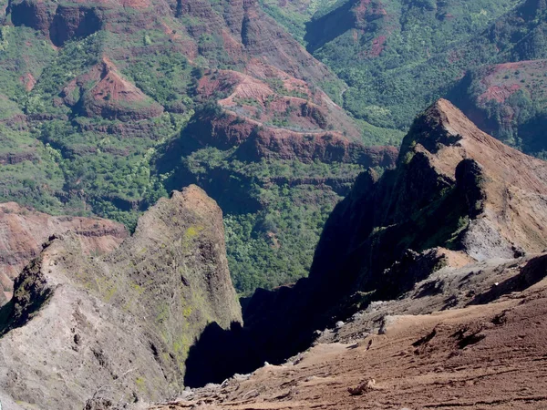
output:
[[[0,204],[0,227],[0,305],[11,299],[15,277],[51,235],[71,231],[86,254],[113,251],[128,236],[123,225],[111,220],[53,217],[15,202]]]

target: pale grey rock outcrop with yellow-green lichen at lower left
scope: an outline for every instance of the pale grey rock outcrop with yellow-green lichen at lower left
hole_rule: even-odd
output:
[[[191,186],[160,200],[106,255],[85,256],[72,234],[53,238],[0,317],[0,393],[23,408],[178,395],[205,326],[241,322],[222,212]]]

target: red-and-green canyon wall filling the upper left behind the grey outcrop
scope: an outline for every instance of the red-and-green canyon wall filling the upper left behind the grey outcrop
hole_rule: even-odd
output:
[[[222,197],[236,198],[242,190],[244,198],[252,197],[227,214],[228,220],[243,218],[250,226],[243,235],[237,228],[241,224],[233,222],[237,230],[229,242],[233,272],[249,270],[238,260],[254,259],[261,265],[240,291],[303,276],[322,221],[356,173],[376,165],[357,155],[344,159],[341,170],[339,155],[324,160],[309,149],[301,157],[295,152],[298,149],[270,157],[269,152],[287,147],[284,137],[297,135],[291,144],[298,146],[303,135],[294,134],[294,129],[318,127],[324,129],[324,136],[352,138],[363,152],[364,143],[402,137],[397,131],[356,123],[336,106],[322,89],[339,100],[343,82],[265,15],[255,0],[62,4],[12,0],[5,4],[5,13],[0,30],[2,201],[15,200],[48,213],[98,215],[132,229],[139,212],[167,196],[168,190],[179,190],[190,182],[209,190],[211,184],[206,181],[220,180],[214,156],[207,154],[211,151],[206,147],[213,138],[208,128],[211,116],[202,113],[212,108],[214,117],[217,101],[228,95],[224,85],[215,81],[202,93],[198,87],[205,73],[209,73],[205,79],[216,72],[219,76],[239,73],[248,83],[263,83],[273,95],[279,94],[273,104],[261,107],[263,122],[274,127],[269,131],[275,129],[263,133],[261,143],[267,149],[247,149],[247,155],[241,149],[237,158],[229,152],[224,156],[228,168],[245,168],[245,181],[224,184]],[[304,115],[296,115],[295,110]],[[215,121],[222,123],[221,118]],[[192,151],[191,158],[187,158],[190,151],[177,151],[181,155],[171,155],[162,164],[165,150],[191,133],[185,131],[189,123],[209,132],[201,135],[203,145]],[[222,149],[230,151],[238,145],[228,140]],[[196,163],[195,157],[200,157],[201,169],[207,169],[200,178],[194,178],[193,172],[173,172],[188,169],[183,162]],[[317,164],[309,164],[309,159]],[[315,174],[303,179],[303,168],[312,166]],[[274,185],[265,200],[251,181],[263,179],[271,168],[282,169],[283,178],[269,182]],[[347,168],[354,170],[346,172]],[[221,173],[232,181],[239,178],[232,171]],[[335,182],[324,184],[325,179]],[[217,195],[218,190],[211,194]],[[216,199],[225,205],[220,196]],[[304,226],[283,230],[289,232],[283,241],[272,236],[272,223],[264,223],[282,208],[284,216],[276,217],[277,224],[287,218],[304,221]],[[283,266],[270,269],[277,256],[284,260]],[[281,277],[268,271],[280,272]]]

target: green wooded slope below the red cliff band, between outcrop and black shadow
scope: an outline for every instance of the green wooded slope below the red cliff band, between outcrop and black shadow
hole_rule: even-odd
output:
[[[234,149],[214,148],[198,149],[175,163],[181,165],[171,171],[170,183],[191,174],[219,200],[232,279],[243,294],[307,275],[326,218],[364,170],[319,161],[247,162],[237,159]],[[211,180],[216,176],[228,182],[219,187]],[[223,196],[226,189],[231,196]]]

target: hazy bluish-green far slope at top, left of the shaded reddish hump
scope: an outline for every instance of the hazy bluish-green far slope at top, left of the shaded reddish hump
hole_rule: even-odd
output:
[[[345,108],[375,125],[406,128],[449,82],[505,51],[487,46],[497,40],[484,30],[520,3],[345,1],[315,15],[305,39],[348,84]]]

